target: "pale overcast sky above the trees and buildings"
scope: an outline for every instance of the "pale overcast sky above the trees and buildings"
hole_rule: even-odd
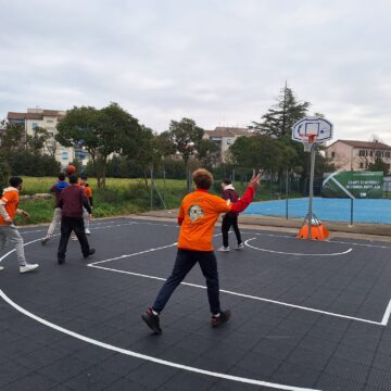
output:
[[[117,102],[247,126],[285,81],[335,139],[391,144],[391,1],[0,0],[0,117]]]

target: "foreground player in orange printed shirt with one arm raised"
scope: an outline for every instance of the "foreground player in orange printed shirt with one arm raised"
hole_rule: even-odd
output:
[[[212,327],[220,326],[230,317],[229,310],[222,311],[220,308],[217,262],[213,252],[212,237],[222,213],[242,212],[251,203],[260,184],[260,175],[252,177],[243,197],[234,203],[210,194],[209,189],[213,184],[213,176],[206,169],[197,169],[192,174],[192,179],[197,189],[184,198],[179,207],[178,252],[173,272],[157,293],[152,307],[141,315],[148,327],[155,333],[162,332],[161,312],[175,289],[197,263],[206,279]]]

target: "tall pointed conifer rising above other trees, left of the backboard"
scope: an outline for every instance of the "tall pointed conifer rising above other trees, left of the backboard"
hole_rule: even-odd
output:
[[[262,122],[253,122],[250,128],[274,138],[290,137],[293,124],[306,116],[308,108],[310,103],[299,102],[286,84],[278,102],[261,117]]]

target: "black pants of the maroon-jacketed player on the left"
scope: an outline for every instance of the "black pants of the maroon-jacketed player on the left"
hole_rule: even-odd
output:
[[[75,231],[77,239],[81,247],[83,255],[89,254],[89,244],[85,234],[85,226],[83,217],[66,217],[61,218],[61,238],[58,251],[58,258],[65,260],[66,247],[70,240],[71,232]]]

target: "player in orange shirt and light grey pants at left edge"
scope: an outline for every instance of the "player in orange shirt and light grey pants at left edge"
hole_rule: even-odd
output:
[[[16,214],[29,217],[27,212],[17,209],[22,182],[23,179],[20,177],[10,178],[11,186],[4,189],[0,199],[0,251],[5,248],[7,241],[11,242],[16,250],[20,273],[28,273],[36,269],[39,265],[26,262],[23,238],[14,225]],[[3,269],[4,267],[0,266],[0,272]]]

